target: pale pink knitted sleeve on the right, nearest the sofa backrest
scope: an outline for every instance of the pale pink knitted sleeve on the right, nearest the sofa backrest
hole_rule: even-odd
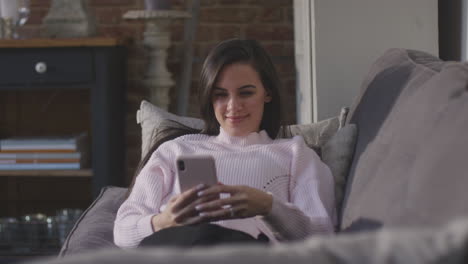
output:
[[[280,240],[332,233],[335,220],[334,180],[330,169],[302,138],[292,147],[290,201],[273,197],[263,220]]]

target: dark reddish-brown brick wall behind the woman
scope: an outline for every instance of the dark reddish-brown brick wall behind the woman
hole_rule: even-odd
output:
[[[24,36],[39,37],[41,23],[50,0],[32,0],[31,16],[21,28]],[[142,45],[144,23],[122,19],[128,10],[144,8],[143,0],[89,0],[100,36],[131,39],[128,46],[127,150],[128,175],[132,175],[140,157],[140,128],[135,112],[142,99],[148,98],[141,80],[146,70],[146,50]],[[217,42],[232,38],[253,38],[260,41],[273,57],[283,84],[283,101],[287,123],[295,122],[295,66],[292,0],[201,0],[200,18],[194,43],[194,67],[189,115],[197,116],[194,96],[201,64],[209,49]],[[172,0],[173,9],[185,9],[184,0]],[[173,45],[169,49],[168,68],[177,79],[183,58],[184,21],[171,24]],[[171,93],[171,109],[175,109],[176,94]]]

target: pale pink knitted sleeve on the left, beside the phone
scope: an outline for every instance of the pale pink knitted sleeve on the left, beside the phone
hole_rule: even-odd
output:
[[[153,154],[137,176],[133,190],[120,206],[114,222],[114,243],[121,248],[135,248],[154,231],[151,218],[160,213],[170,195],[173,173],[163,160]]]

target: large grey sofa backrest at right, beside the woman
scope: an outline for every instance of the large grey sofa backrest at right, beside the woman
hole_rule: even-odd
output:
[[[392,49],[348,122],[358,126],[342,230],[429,226],[468,215],[468,66]]]

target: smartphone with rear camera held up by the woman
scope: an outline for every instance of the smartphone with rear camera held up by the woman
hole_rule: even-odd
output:
[[[181,155],[176,159],[176,168],[181,192],[200,183],[208,186],[218,183],[215,160],[212,156]]]

